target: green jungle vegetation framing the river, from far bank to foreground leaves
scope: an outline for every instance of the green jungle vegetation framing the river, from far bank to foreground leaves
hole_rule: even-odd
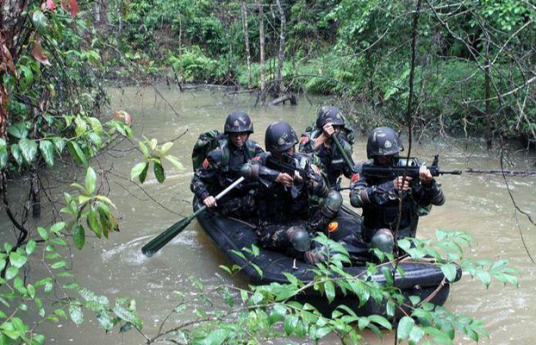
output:
[[[358,317],[344,309],[325,317],[312,306],[292,301],[303,285],[289,277],[286,286],[233,294],[222,287],[229,311],[207,316],[199,308],[195,323],[148,336],[135,301],[111,303],[79,286],[65,269],[69,258],[61,247],[72,243],[82,249],[86,233],[107,238],[117,230],[113,201],[98,194],[91,158],[114,140],[132,140],[132,131],[126,112],[102,116],[108,102],[106,83],[167,80],[181,90],[189,83],[222,84],[254,90],[262,102],[289,93],[331,95],[364,131],[381,123],[409,126],[410,132],[483,134],[488,148],[501,138],[530,146],[536,141],[534,1],[0,4],[0,195],[2,212],[15,234],[2,241],[0,251],[0,344],[43,344],[41,323],[68,317],[80,323],[88,310],[107,331],[135,329],[146,343],[167,337],[178,343],[245,344],[288,335],[316,341],[330,332],[342,343],[356,343],[365,328],[396,329],[397,340],[411,344],[449,344],[456,331],[475,341],[485,335],[480,321],[418,300],[399,323],[380,316]],[[151,166],[164,182],[163,161],[180,168],[180,162],[167,154],[170,144],[159,146],[150,139],[139,143],[147,161],[135,177],[146,175]],[[40,172],[60,162],[83,167],[84,183],[73,184],[77,194],[66,193],[58,202],[58,221],[29,228],[30,214],[40,214]],[[20,212],[8,197],[9,179],[17,176],[30,180],[30,206]],[[470,241],[466,234],[438,232],[438,239],[438,247],[417,243],[412,255],[436,257],[449,279],[458,262],[486,285],[491,277],[517,284],[505,260],[463,261],[462,245]],[[30,258],[48,267],[49,276],[28,275]],[[319,267],[316,288],[328,300],[335,286],[363,301],[385,298],[393,316],[402,303],[393,286],[333,278],[345,260],[338,257]],[[370,267],[370,272],[375,269]],[[392,272],[384,274],[392,280]],[[204,290],[199,282],[193,283]],[[57,304],[50,308],[43,298],[53,291]],[[181,293],[176,295],[177,307],[171,313],[180,314],[187,304]]]

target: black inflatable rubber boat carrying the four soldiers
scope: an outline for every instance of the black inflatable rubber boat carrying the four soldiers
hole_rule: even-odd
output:
[[[194,208],[197,205],[194,201]],[[349,218],[359,226],[361,217],[350,208],[343,206],[342,212],[345,218]],[[294,260],[283,253],[278,253],[260,248],[260,254],[253,256],[243,251],[243,248],[251,248],[257,243],[255,227],[247,222],[235,219],[217,216],[212,212],[203,212],[197,217],[198,222],[205,233],[214,241],[232,264],[243,267],[241,272],[251,284],[270,284],[277,282],[281,284],[288,283],[283,273],[288,272],[294,275],[302,282],[310,282],[314,279],[314,272],[311,271],[314,266],[305,262]],[[257,246],[259,247],[259,246]],[[240,256],[232,251],[241,251],[245,258],[261,268],[261,276],[257,270]],[[398,273],[395,275],[395,286],[398,287],[406,296],[419,296],[421,300],[427,300],[436,305],[443,305],[447,300],[450,284],[445,279],[441,269],[432,264],[429,260],[422,261],[401,261],[399,267],[404,270],[404,277]],[[364,265],[345,267],[345,271],[353,276],[361,275],[366,271]],[[456,280],[461,277],[461,269],[458,268]],[[378,283],[385,283],[385,277],[382,273],[373,275],[372,280]],[[328,303],[326,297],[321,296],[318,291],[310,289],[306,291],[305,296],[299,297],[299,300],[307,301],[319,310],[329,313],[339,304],[345,304],[352,308],[359,315],[379,314],[385,315],[385,305],[377,305],[372,299],[364,306],[359,307],[358,298],[355,296],[344,296],[337,292],[337,296],[332,303]]]

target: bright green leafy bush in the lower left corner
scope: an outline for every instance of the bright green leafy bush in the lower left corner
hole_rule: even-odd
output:
[[[115,217],[108,208],[114,205],[105,196],[94,194],[96,184],[95,172],[88,168],[85,187],[73,184],[82,191],[78,202],[65,193],[66,206],[62,212],[71,214],[71,221],[54,223],[48,229],[37,227],[30,238],[18,246],[3,243],[0,251],[1,344],[44,344],[45,337],[39,333],[37,326],[69,317],[75,324],[80,324],[84,320],[82,308],[95,312],[100,325],[106,330],[115,325],[141,328],[134,301],[118,299],[115,306],[109,306],[106,297],[81,287],[71,273],[68,238],[72,236],[75,247],[82,249],[85,243],[84,218],[87,228],[97,237],[101,234],[108,237],[111,231],[118,230]],[[42,265],[49,274],[41,279],[28,276],[30,263]],[[76,297],[74,292],[78,292],[81,298]]]

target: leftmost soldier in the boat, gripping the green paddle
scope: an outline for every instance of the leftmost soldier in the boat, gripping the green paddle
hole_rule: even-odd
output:
[[[253,207],[251,186],[238,186],[218,203],[214,198],[219,192],[240,177],[240,168],[253,157],[264,152],[249,135],[253,133],[253,123],[249,115],[235,110],[227,116],[224,137],[218,147],[212,150],[203,164],[194,173],[190,189],[195,196],[210,208],[218,207],[218,213],[224,216],[243,218],[244,211]]]

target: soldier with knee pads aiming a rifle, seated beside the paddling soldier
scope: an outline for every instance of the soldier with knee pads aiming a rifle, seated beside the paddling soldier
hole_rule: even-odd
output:
[[[311,158],[295,153],[297,143],[296,132],[288,123],[272,123],[265,136],[268,152],[244,165],[242,175],[261,182],[256,194],[261,246],[316,263],[326,258],[312,249],[311,237],[335,217],[342,197],[336,191],[328,193]],[[320,210],[310,209],[314,195],[326,198]]]

